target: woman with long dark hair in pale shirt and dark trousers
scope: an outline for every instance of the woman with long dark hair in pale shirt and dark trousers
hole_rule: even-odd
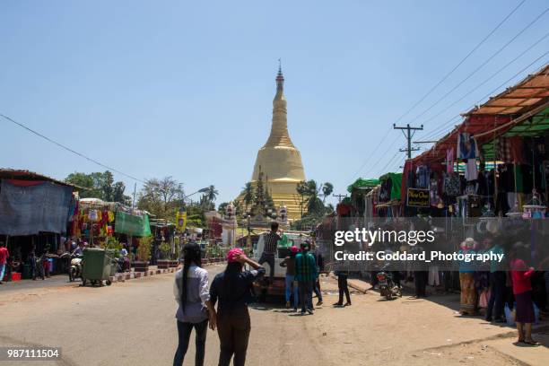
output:
[[[208,292],[208,272],[202,268],[200,246],[188,243],[183,248],[183,268],[175,276],[173,286],[175,300],[178,303],[178,349],[173,358],[174,366],[183,365],[187,353],[188,341],[195,328],[196,354],[195,365],[204,365],[205,340],[208,318],[215,324],[215,310]]]

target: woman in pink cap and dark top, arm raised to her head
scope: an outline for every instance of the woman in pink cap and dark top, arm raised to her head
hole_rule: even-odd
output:
[[[233,248],[227,254],[227,268],[217,274],[210,288],[210,301],[217,305],[216,323],[210,327],[219,335],[221,351],[219,366],[229,366],[234,355],[234,366],[243,366],[248,351],[251,330],[248,303],[253,299],[252,284],[265,274],[265,268],[246,257],[241,248]],[[252,270],[242,271],[248,265]]]

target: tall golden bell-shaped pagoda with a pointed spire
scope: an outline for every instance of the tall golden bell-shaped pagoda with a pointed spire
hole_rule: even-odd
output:
[[[282,68],[279,66],[276,75],[276,95],[273,100],[271,134],[266,144],[257,152],[251,181],[255,185],[262,171],[276,209],[286,206],[288,219],[296,220],[301,218],[300,196],[297,194],[296,187],[299,182],[305,180],[305,172],[301,163],[301,153],[292,144],[288,134],[283,87],[284,77]]]

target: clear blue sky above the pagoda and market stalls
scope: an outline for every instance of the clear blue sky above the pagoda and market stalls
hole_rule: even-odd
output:
[[[0,112],[140,179],[173,176],[187,192],[213,184],[219,203],[238,195],[266,142],[282,57],[290,134],[307,178],[330,181],[341,193],[358,175],[398,170],[405,157],[396,152],[405,140],[390,126],[519,3],[4,0]],[[546,7],[542,0],[522,4],[399,123],[439,100]],[[545,13],[414,124],[548,31]],[[418,137],[465,112],[548,48],[546,38],[425,123]],[[4,119],[0,131],[0,167],[58,179],[104,170]],[[128,191],[134,185],[115,178]]]

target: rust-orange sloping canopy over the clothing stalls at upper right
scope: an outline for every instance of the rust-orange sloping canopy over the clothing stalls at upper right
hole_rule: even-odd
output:
[[[444,161],[448,149],[457,144],[457,135],[468,132],[483,145],[494,137],[507,133],[527,118],[533,118],[549,108],[549,65],[536,74],[490,98],[483,105],[464,114],[465,120],[449,134],[440,138],[431,149],[407,161],[408,165]]]

